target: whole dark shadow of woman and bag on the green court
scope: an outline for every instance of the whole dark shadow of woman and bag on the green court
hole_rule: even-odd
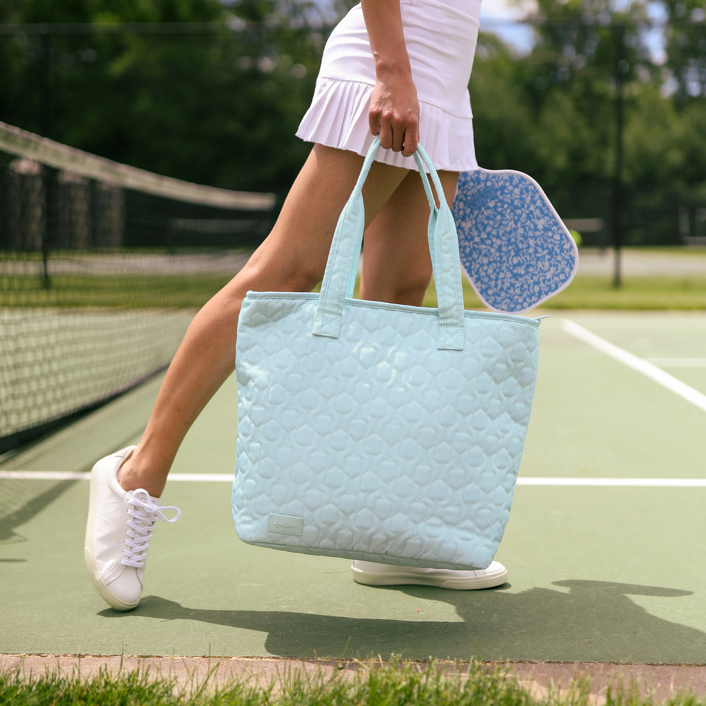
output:
[[[265,649],[282,657],[369,657],[391,653],[443,659],[532,659],[563,662],[706,663],[706,633],[650,615],[628,596],[675,599],[689,591],[601,581],[554,582],[564,590],[533,588],[450,591],[402,590],[419,599],[423,614],[435,602],[455,606],[461,621],[377,620],[287,611],[206,610],[148,596],[133,615],[189,620],[268,633]],[[107,609],[107,618],[130,614]],[[237,652],[237,635],[233,650]],[[345,654],[344,654],[345,651]]]

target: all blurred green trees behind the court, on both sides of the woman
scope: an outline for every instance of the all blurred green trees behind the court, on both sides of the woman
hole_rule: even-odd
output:
[[[333,8],[340,16],[349,5]],[[3,24],[180,24],[0,37],[0,120],[161,174],[285,193],[311,147],[294,132],[333,28],[320,9],[299,0],[6,0]],[[681,243],[678,208],[693,221],[706,205],[704,20],[702,0],[620,10],[539,0],[529,53],[481,32],[469,85],[479,164],[532,174],[565,217],[609,220],[617,72],[623,243]],[[205,22],[213,25],[190,24]]]

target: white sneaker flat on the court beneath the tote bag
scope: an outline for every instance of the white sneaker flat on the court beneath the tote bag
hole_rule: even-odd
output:
[[[419,585],[437,588],[492,588],[508,580],[508,570],[499,562],[493,561],[486,569],[476,571],[455,571],[451,569],[419,569],[414,566],[390,566],[373,561],[354,559],[353,580],[368,586]]]

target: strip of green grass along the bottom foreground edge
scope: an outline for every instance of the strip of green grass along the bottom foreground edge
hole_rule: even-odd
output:
[[[590,683],[571,683],[532,695],[500,667],[471,662],[464,671],[443,671],[435,664],[414,662],[358,663],[330,675],[322,670],[297,670],[269,683],[247,677],[219,683],[212,671],[204,681],[180,686],[174,678],[145,671],[107,671],[83,679],[77,674],[48,672],[25,677],[21,672],[0,675],[2,706],[588,706],[595,703]],[[649,706],[637,688],[609,689],[609,706]],[[671,706],[697,706],[705,702],[680,694]]]

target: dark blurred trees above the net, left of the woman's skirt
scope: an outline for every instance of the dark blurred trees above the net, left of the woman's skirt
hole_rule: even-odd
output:
[[[6,23],[177,23],[151,35],[96,30],[44,40],[50,136],[60,142],[237,189],[286,189],[309,151],[294,132],[311,100],[323,37],[297,23],[304,5],[30,0],[0,7]],[[193,33],[188,23],[197,22],[216,24]],[[37,35],[0,40],[7,67],[0,119],[39,133],[42,49]]]

